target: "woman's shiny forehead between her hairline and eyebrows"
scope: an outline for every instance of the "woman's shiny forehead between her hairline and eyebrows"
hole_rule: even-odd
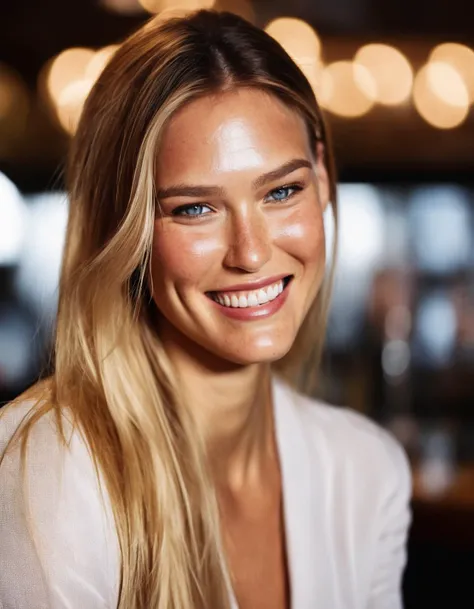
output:
[[[173,115],[162,134],[157,178],[263,169],[295,156],[311,158],[301,116],[263,91],[237,89],[193,100]]]

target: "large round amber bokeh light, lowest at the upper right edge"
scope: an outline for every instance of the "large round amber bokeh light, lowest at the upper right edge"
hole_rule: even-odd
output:
[[[449,64],[429,62],[415,77],[413,102],[424,120],[438,129],[461,125],[469,112],[467,89]]]

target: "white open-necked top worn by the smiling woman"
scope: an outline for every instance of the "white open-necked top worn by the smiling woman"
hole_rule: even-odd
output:
[[[400,609],[411,494],[402,449],[353,411],[280,381],[273,391],[292,609]],[[0,416],[0,454],[30,407]],[[0,467],[0,608],[116,608],[118,544],[88,450],[73,431],[64,451],[50,415],[33,429],[27,482],[38,552],[16,449]]]

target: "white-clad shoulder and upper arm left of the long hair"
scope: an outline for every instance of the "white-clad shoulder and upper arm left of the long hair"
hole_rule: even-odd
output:
[[[114,599],[119,550],[107,493],[70,413],[43,413],[41,406],[24,401],[0,410],[0,563],[8,565],[0,573],[0,598],[13,595],[11,606],[29,606],[19,600],[25,590],[13,586],[23,565],[30,573],[28,594],[34,590],[41,602],[45,586],[58,602],[61,595],[80,599],[93,588]],[[18,433],[25,425],[23,460]],[[98,606],[90,598],[89,604],[77,602]]]

